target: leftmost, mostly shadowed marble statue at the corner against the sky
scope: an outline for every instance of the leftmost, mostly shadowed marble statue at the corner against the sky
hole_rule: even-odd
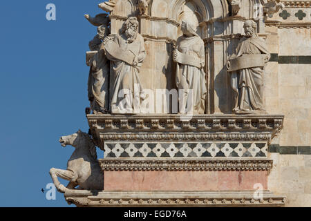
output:
[[[97,28],[97,35],[88,44],[92,51],[97,50],[87,65],[90,66],[88,74],[88,100],[94,114],[109,111],[109,60],[100,49],[102,41],[109,35],[107,23]]]

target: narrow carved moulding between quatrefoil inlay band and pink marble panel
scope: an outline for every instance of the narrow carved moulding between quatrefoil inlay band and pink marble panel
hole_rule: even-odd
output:
[[[99,161],[103,171],[267,171],[269,174],[273,166],[273,160],[136,159]]]

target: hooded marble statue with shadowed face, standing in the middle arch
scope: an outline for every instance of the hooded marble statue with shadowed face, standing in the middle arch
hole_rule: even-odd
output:
[[[177,63],[176,86],[178,88],[179,113],[204,114],[206,100],[205,47],[196,33],[196,26],[182,21],[182,36],[173,51]]]

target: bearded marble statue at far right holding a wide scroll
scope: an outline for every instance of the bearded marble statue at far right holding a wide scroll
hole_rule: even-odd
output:
[[[227,61],[234,90],[234,113],[265,113],[263,106],[264,66],[270,59],[265,41],[256,34],[256,22],[244,23],[245,37]]]

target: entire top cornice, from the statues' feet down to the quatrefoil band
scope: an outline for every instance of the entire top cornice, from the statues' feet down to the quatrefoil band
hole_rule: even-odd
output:
[[[281,131],[282,115],[87,115],[91,134],[107,141],[265,141]]]

